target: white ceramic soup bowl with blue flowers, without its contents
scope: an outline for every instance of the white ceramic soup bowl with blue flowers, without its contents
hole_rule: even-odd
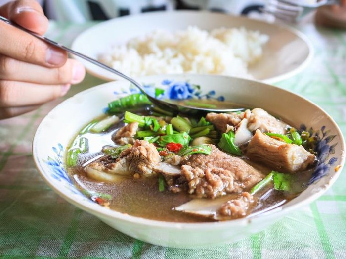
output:
[[[107,103],[133,91],[127,81],[103,84],[56,106],[42,121],[33,142],[33,156],[43,179],[71,204],[139,240],[174,248],[206,248],[237,241],[273,224],[285,214],[321,196],[338,178],[345,160],[342,133],[320,107],[286,90],[239,78],[208,75],[160,75],[139,78],[144,84],[170,88],[171,97],[186,97],[186,84],[200,85],[202,98],[218,98],[261,107],[299,127],[319,132],[321,162],[309,187],[291,202],[264,214],[225,222],[172,223],[112,211],[81,194],[65,171],[65,147],[83,125],[102,114]],[[162,85],[163,83],[163,85]],[[148,88],[149,89],[149,88]],[[190,95],[195,96],[194,90]],[[179,96],[180,95],[180,96]]]

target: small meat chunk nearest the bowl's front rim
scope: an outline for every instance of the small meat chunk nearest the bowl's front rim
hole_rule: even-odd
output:
[[[227,201],[218,209],[222,216],[229,216],[232,219],[246,216],[251,205],[254,204],[254,197],[248,192],[243,192],[237,198]]]

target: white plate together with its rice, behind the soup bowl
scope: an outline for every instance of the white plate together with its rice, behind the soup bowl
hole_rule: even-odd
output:
[[[80,34],[72,49],[131,76],[218,74],[275,83],[303,70],[313,49],[291,27],[203,11],[115,18]],[[79,59],[87,71],[118,76]]]

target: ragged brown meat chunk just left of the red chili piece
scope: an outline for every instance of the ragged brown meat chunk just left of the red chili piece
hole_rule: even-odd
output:
[[[159,162],[161,157],[153,144],[145,140],[136,140],[132,147],[119,155],[112,167],[126,167],[132,175],[151,177],[156,174],[153,167]]]

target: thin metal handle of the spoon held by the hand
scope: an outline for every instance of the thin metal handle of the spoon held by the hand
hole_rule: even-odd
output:
[[[6,19],[5,17],[0,16],[0,20],[2,20],[3,22],[5,22],[5,23],[7,23],[9,25],[12,25],[12,26],[14,26],[14,27],[16,27],[16,28],[18,28],[18,29],[20,29],[22,31],[25,31],[26,33],[29,33],[30,35],[32,35],[32,36],[34,36],[34,37],[36,37],[36,38],[38,38],[40,40],[43,40],[44,42],[47,42],[47,43],[49,43],[51,45],[54,45],[54,46],[58,47],[59,49],[62,49],[62,50],[67,51],[67,52],[69,52],[71,54],[74,54],[75,56],[83,58],[83,59],[89,61],[90,63],[93,63],[93,64],[95,64],[95,65],[97,65],[99,67],[102,67],[103,69],[105,69],[105,70],[107,70],[107,71],[109,71],[111,73],[114,73],[114,74],[116,74],[116,75],[118,75],[118,76],[120,76],[120,77],[122,77],[124,79],[129,80],[132,84],[134,84],[136,87],[138,87],[139,90],[143,94],[146,95],[143,87],[138,82],[136,82],[134,79],[128,77],[127,75],[124,75],[123,73],[119,72],[118,70],[115,70],[115,69],[113,69],[113,68],[111,68],[111,67],[109,67],[109,66],[107,66],[107,65],[105,65],[105,64],[103,64],[103,63],[101,63],[101,62],[99,62],[99,61],[97,61],[97,60],[95,60],[93,58],[91,58],[91,57],[88,57],[88,56],[80,53],[80,52],[76,52],[76,51],[74,51],[74,50],[72,50],[70,48],[67,48],[66,46],[64,46],[64,45],[62,45],[60,43],[54,42],[54,41],[52,41],[52,40],[50,40],[50,39],[48,39],[48,38],[46,38],[46,37],[44,37],[42,35],[39,35],[39,34],[34,33],[32,31],[29,31],[28,29],[26,29],[26,28],[24,28],[24,27],[22,27],[22,26],[20,26],[20,25],[18,25],[16,23],[14,23],[14,22],[11,22],[10,20]]]

